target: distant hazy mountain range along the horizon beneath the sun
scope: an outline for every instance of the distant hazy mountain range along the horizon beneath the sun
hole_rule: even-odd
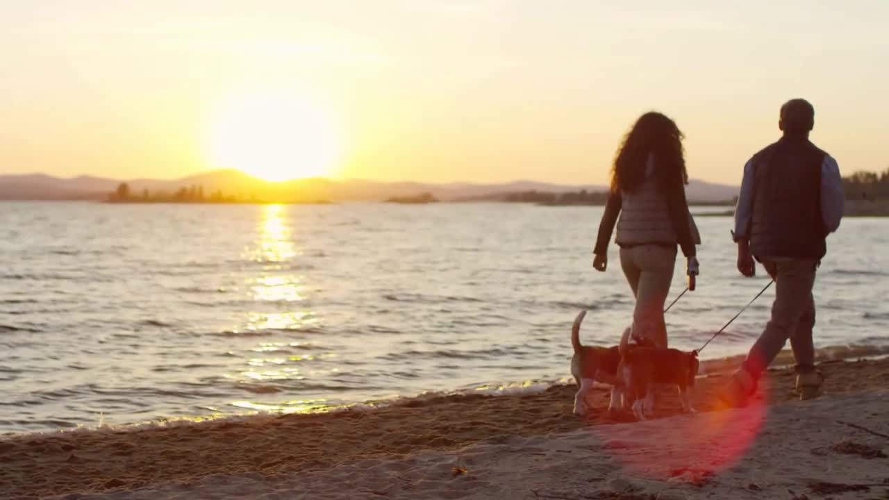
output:
[[[44,173],[0,175],[0,199],[5,200],[101,200],[124,181],[82,175],[60,178]],[[442,201],[497,201],[508,193],[521,191],[568,192],[602,191],[605,186],[564,185],[536,181],[501,184],[453,182],[381,182],[324,178],[268,182],[236,170],[215,170],[175,180],[132,179],[125,181],[130,192],[139,196],[143,190],[175,192],[180,188],[203,187],[205,193],[221,191],[241,199],[256,198],[274,202],[306,201],[382,201],[388,198],[429,193]],[[731,200],[738,188],[704,181],[691,181],[685,188],[690,202],[713,203]]]

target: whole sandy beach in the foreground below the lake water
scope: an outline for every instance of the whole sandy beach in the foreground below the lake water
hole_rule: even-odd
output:
[[[792,372],[773,369],[737,410],[713,398],[726,373],[704,375],[698,414],[679,415],[665,393],[642,423],[581,420],[571,414],[573,385],[557,385],[331,414],[6,436],[0,497],[882,497],[889,359],[821,370],[821,399],[796,400]],[[598,388],[597,407],[606,398]]]

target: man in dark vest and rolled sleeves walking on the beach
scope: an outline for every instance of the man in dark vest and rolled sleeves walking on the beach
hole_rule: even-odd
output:
[[[729,406],[745,403],[788,339],[800,399],[821,394],[823,376],[814,366],[812,287],[827,253],[826,238],[839,227],[845,198],[837,161],[809,141],[814,114],[805,100],[786,102],[778,122],[783,137],[744,165],[733,231],[738,270],[754,276],[756,258],[776,289],[772,319],[720,393]]]

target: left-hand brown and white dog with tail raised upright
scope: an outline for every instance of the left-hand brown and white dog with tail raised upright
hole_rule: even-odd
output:
[[[581,323],[587,315],[586,310],[581,310],[571,327],[571,345],[574,355],[571,359],[571,374],[577,382],[578,391],[574,394],[574,415],[586,415],[587,395],[593,388],[593,383],[607,383],[612,386],[611,400],[608,410],[625,407],[623,399],[623,379],[618,376],[618,367],[621,366],[621,351],[632,351],[637,346],[629,344],[629,328],[624,330],[621,337],[621,346],[599,347],[581,344]],[[645,347],[653,347],[654,344],[647,339],[642,341]]]

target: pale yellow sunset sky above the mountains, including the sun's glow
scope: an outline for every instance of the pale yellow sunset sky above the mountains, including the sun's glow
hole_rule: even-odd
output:
[[[632,6],[630,6],[630,4]],[[648,109],[738,183],[813,102],[889,166],[889,2],[4,2],[0,173],[603,183]]]

